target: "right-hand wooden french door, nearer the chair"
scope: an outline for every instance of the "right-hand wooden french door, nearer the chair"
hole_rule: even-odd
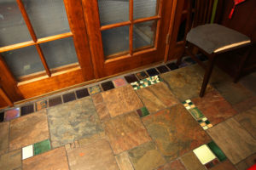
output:
[[[82,0],[96,77],[163,60],[172,0]]]

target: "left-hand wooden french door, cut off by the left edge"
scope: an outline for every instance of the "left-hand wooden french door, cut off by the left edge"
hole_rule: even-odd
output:
[[[0,106],[95,78],[81,1],[2,0],[0,11]]]

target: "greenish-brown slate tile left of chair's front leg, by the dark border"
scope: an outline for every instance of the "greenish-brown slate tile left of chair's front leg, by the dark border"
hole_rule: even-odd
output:
[[[198,71],[199,69],[198,65],[190,65],[175,71],[166,72],[160,77],[168,83],[177,99],[184,101],[199,96],[203,80],[203,75],[201,71]],[[207,92],[212,89],[212,86],[208,84]]]

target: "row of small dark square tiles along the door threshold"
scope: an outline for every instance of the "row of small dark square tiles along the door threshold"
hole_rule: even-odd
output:
[[[205,60],[205,58],[199,58],[199,59]],[[193,65],[193,64],[195,64],[195,62],[191,61],[190,57],[184,57],[183,63],[184,63],[184,65]],[[94,94],[98,94],[98,93],[102,93],[104,91],[111,90],[113,88],[119,88],[119,87],[125,86],[126,84],[129,83],[129,82],[127,83],[127,80],[125,80],[126,76],[136,77],[137,85],[131,85],[131,86],[135,86],[135,87],[137,87],[137,89],[142,88],[142,87],[145,88],[149,85],[149,82],[150,82],[150,80],[149,80],[149,82],[147,80],[147,78],[149,77],[148,72],[147,72],[148,70],[154,69],[155,71],[158,72],[158,75],[160,75],[162,73],[178,69],[178,67],[175,66],[175,65],[176,65],[175,62],[172,61],[170,63],[166,63],[166,64],[162,64],[162,65],[155,65],[154,67],[149,67],[149,68],[147,68],[143,71],[137,71],[136,73],[132,73],[130,75],[124,75],[123,77],[113,78],[113,80],[107,81],[107,82],[110,82],[110,83],[112,82],[111,84],[113,84],[113,86],[110,87],[110,88],[105,88],[106,90],[104,90],[104,88],[102,88],[102,83],[106,82],[106,81],[104,81],[104,82],[98,82],[98,83],[94,84],[93,86],[89,86],[89,87],[86,87],[86,88],[79,88],[77,90],[68,91],[67,93],[65,93],[65,94],[73,94],[74,93],[75,98],[73,98],[73,99],[64,99],[63,95],[65,95],[65,94],[61,94],[61,95],[49,96],[47,99],[35,100],[33,102],[25,103],[23,105],[15,106],[15,107],[12,107],[12,108],[6,108],[6,109],[3,109],[3,110],[0,111],[0,122],[8,122],[12,119],[18,118],[20,116],[25,116],[27,114],[31,114],[35,111],[41,111],[43,109],[47,109],[47,108],[55,106],[55,105],[62,105],[64,103],[67,103],[67,102],[70,102],[70,101],[73,101],[73,100],[76,100],[76,99],[82,99],[84,97],[94,95]],[[160,68],[165,68],[165,69],[160,69]],[[140,77],[137,76],[137,73],[140,73],[140,72],[145,73],[145,75],[147,76],[147,78],[145,78],[146,81],[144,81],[145,79],[140,80]],[[157,77],[159,77],[158,75],[157,75]],[[119,79],[122,79],[122,82],[118,82],[117,80],[119,80]],[[141,83],[141,81],[143,81],[143,83]],[[159,77],[158,81],[160,81],[160,77]],[[157,83],[158,81],[154,82],[154,80],[153,80],[154,83]],[[130,84],[131,83],[132,82],[130,82]],[[147,83],[148,83],[148,85],[147,85]],[[52,99],[57,99],[57,101],[52,102]],[[55,104],[50,104],[50,103],[55,103]],[[10,110],[14,110],[14,109],[19,109],[20,110],[20,115],[16,116],[16,117],[13,117],[10,120],[5,120],[4,119],[5,112],[10,111]]]

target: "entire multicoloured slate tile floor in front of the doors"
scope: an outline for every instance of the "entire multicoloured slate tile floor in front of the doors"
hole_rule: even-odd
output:
[[[214,69],[205,97],[199,98],[203,71],[191,59],[184,63],[182,68],[158,65],[0,111],[0,169],[252,166],[256,96],[250,83],[256,80],[251,75],[235,84]],[[133,88],[132,82],[145,82],[158,71],[160,81]],[[211,127],[203,129],[203,120]]]

